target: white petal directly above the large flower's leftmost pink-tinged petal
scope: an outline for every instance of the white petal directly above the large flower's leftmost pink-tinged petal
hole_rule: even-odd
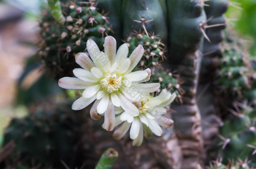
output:
[[[73,70],[73,73],[77,78],[80,78],[84,81],[88,81],[88,82],[97,82],[97,81],[99,81],[99,79],[96,78],[91,72],[86,71],[82,68],[75,68]]]

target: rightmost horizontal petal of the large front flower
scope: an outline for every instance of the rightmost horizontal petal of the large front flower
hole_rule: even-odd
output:
[[[160,87],[160,83],[134,83],[132,87],[139,93],[153,93]]]

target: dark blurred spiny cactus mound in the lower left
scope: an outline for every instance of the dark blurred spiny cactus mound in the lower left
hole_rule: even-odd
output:
[[[88,160],[88,168],[94,167],[94,159],[83,154],[94,153],[93,144],[87,141],[87,151],[81,152],[79,134],[81,117],[77,112],[68,111],[70,105],[56,105],[56,108],[39,106],[32,114],[24,118],[14,118],[5,129],[4,145],[13,140],[15,150],[6,159],[10,168],[41,164],[40,168],[63,168],[60,160],[70,167],[81,166]],[[84,159],[83,159],[84,158]],[[97,158],[97,157],[96,157]],[[31,161],[34,161],[32,163]]]

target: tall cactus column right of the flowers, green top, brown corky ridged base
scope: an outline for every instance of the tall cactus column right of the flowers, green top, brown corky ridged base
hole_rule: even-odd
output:
[[[196,103],[196,88],[201,65],[199,47],[203,42],[200,25],[206,20],[203,2],[197,0],[167,1],[169,15],[170,64],[178,69],[178,83],[185,91],[183,104],[172,108],[179,112],[173,114],[182,147],[183,169],[196,168],[201,164],[202,130],[201,117]],[[202,45],[201,45],[202,47]]]

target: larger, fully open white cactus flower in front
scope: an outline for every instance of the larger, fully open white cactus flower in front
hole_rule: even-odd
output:
[[[87,41],[86,48],[91,59],[86,53],[76,54],[76,63],[82,67],[73,70],[77,78],[60,78],[58,84],[66,89],[84,89],[72,109],[83,109],[96,100],[90,111],[91,118],[98,120],[98,114],[104,114],[103,128],[112,131],[114,106],[121,106],[130,116],[138,116],[138,108],[131,101],[140,100],[140,93],[157,91],[160,84],[142,83],[149,80],[150,69],[131,72],[144,53],[142,45],[138,45],[129,58],[128,45],[121,45],[116,52],[116,40],[112,36],[105,38],[104,53],[93,40]]]

